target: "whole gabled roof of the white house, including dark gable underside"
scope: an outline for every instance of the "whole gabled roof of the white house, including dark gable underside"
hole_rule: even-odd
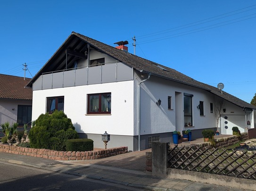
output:
[[[227,101],[230,101],[233,104],[238,105],[243,108],[256,109],[253,105],[235,97],[231,94],[220,91],[218,88],[211,85],[207,85],[201,82],[198,82],[192,79],[189,76],[186,76],[177,70],[168,68],[166,66],[157,64],[156,62],[143,59],[139,56],[133,55],[131,53],[126,53],[122,50],[119,50],[113,46],[109,46],[92,38],[83,36],[79,33],[72,32],[71,35],[66,39],[66,41],[58,48],[56,53],[50,58],[48,62],[41,68],[41,70],[33,77],[33,79],[27,84],[27,86],[32,87],[33,82],[45,72],[52,72],[57,70],[62,70],[67,68],[68,64],[74,61],[75,56],[67,57],[66,62],[66,50],[75,51],[78,53],[84,53],[87,50],[87,47],[94,48],[99,52],[105,53],[114,59],[124,62],[125,64],[131,66],[132,68],[143,71],[144,73],[150,73],[153,76],[158,76],[168,80],[172,80],[178,83],[187,84],[194,86],[200,89],[204,89],[208,92],[211,92]]]

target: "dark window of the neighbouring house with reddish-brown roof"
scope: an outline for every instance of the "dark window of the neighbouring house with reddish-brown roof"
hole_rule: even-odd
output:
[[[18,105],[17,122],[19,125],[31,124],[32,106]]]

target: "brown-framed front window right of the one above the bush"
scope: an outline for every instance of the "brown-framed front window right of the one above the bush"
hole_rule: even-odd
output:
[[[111,93],[88,94],[87,114],[111,114]]]

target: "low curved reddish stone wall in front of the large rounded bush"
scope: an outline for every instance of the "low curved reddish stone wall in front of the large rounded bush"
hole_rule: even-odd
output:
[[[99,158],[106,158],[117,154],[124,154],[128,152],[128,147],[116,147],[104,149],[100,151],[53,151],[48,149],[34,149],[13,145],[0,144],[0,152],[14,153],[26,156],[40,157],[53,160],[94,160]]]

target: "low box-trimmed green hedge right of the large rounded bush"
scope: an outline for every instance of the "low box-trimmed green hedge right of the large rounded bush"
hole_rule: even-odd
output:
[[[66,151],[92,151],[93,140],[89,138],[68,139]]]

